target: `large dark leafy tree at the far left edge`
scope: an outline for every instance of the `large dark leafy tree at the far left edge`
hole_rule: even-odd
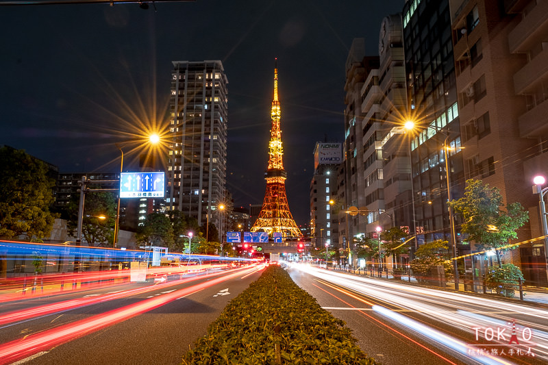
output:
[[[54,182],[46,164],[23,150],[1,147],[0,171],[0,237],[36,241],[49,236]]]

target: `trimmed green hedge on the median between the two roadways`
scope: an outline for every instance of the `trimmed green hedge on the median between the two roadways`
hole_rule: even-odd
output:
[[[377,364],[277,265],[225,307],[182,364]]]

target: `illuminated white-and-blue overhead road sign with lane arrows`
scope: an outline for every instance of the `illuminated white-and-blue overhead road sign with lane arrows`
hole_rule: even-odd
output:
[[[121,198],[163,198],[165,173],[121,173]]]

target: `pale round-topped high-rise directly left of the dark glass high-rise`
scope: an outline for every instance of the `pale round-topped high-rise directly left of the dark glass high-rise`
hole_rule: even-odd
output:
[[[377,92],[379,105],[377,118],[381,128],[377,134],[382,135],[373,138],[372,134],[371,143],[382,149],[382,170],[377,170],[377,177],[382,177],[379,181],[384,190],[384,210],[379,207],[379,212],[370,212],[369,221],[383,230],[403,227],[409,231],[412,221],[410,140],[403,127],[407,98],[401,29],[401,15],[394,14],[383,19],[379,32],[379,82],[373,90]]]

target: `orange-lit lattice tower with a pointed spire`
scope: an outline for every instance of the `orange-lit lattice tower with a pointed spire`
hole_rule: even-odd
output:
[[[286,196],[286,177],[282,157],[282,129],[279,128],[279,101],[278,101],[278,69],[274,66],[274,99],[272,101],[271,119],[272,127],[269,142],[269,168],[264,174],[266,179],[266,192],[262,203],[259,218],[251,227],[251,231],[282,232],[284,237],[301,237],[301,231],[297,228]]]

